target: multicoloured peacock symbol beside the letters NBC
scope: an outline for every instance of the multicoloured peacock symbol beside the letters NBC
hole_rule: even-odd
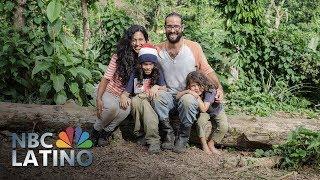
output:
[[[89,149],[93,143],[89,139],[90,135],[88,132],[82,132],[80,127],[68,127],[66,131],[59,133],[59,139],[56,141],[56,146],[60,149]]]

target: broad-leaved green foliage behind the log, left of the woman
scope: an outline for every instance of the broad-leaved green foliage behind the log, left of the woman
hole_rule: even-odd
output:
[[[11,27],[10,14],[3,9],[9,16],[1,19],[6,26],[0,32],[4,47],[1,96],[14,102],[63,104],[75,99],[80,105],[90,105],[93,83],[105,69],[83,56],[82,39],[72,34],[78,25],[72,17],[77,13],[66,11],[56,0],[30,2],[26,9],[22,32]]]

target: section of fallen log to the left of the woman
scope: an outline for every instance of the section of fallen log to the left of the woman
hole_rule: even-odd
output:
[[[68,126],[87,128],[96,120],[95,108],[73,101],[64,105],[38,105],[0,102],[0,130],[61,131]]]

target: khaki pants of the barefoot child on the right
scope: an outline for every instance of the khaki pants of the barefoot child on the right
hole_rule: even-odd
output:
[[[197,120],[197,129],[199,132],[199,137],[206,137],[206,126],[208,123],[212,122],[212,129],[216,125],[216,129],[211,133],[209,139],[211,138],[216,143],[220,143],[224,135],[228,131],[228,121],[227,116],[224,110],[222,110],[217,116],[212,116],[208,113],[200,113],[200,116]],[[214,124],[215,123],[215,124]]]

